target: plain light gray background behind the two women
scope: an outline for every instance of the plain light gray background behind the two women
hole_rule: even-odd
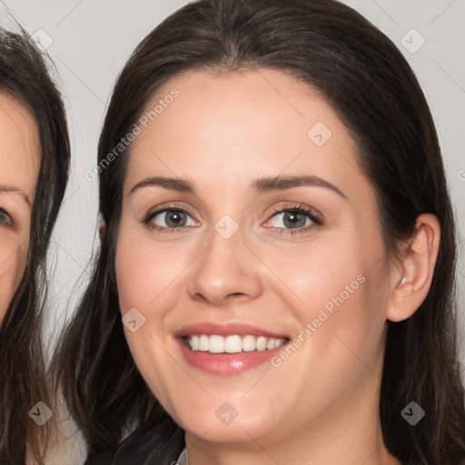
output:
[[[88,279],[91,254],[98,247],[97,182],[87,181],[84,173],[95,164],[97,140],[114,80],[135,45],[164,17],[186,3],[186,0],[0,1],[2,25],[8,25],[8,15],[11,15],[47,47],[58,70],[69,117],[73,165],[50,253],[54,281],[47,341],[54,341],[65,318],[74,311]],[[344,3],[391,37],[420,80],[438,127],[450,195],[460,226],[460,244],[463,244],[465,0],[345,0]],[[416,53],[404,46],[414,50],[420,45],[420,35],[411,33],[412,28],[426,41]],[[460,245],[462,339],[464,264]],[[460,353],[465,363],[463,341]]]

